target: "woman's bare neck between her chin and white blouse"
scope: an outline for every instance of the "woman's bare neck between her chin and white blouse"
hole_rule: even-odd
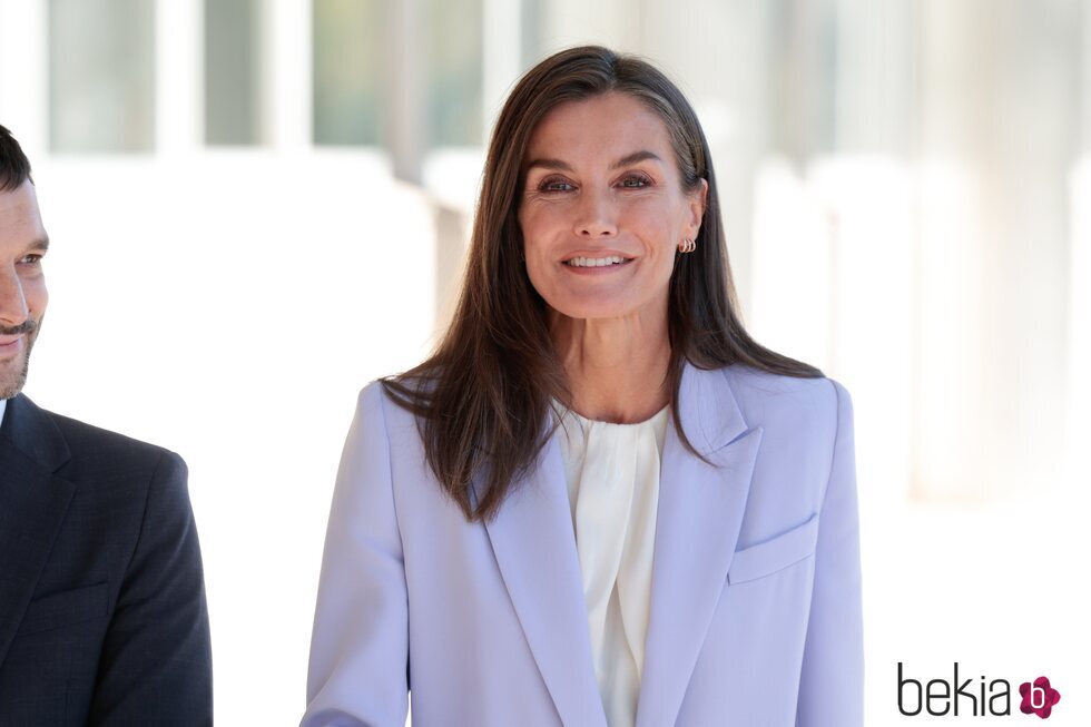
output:
[[[651,419],[670,401],[667,316],[648,318],[552,314],[550,335],[579,414],[631,424]]]

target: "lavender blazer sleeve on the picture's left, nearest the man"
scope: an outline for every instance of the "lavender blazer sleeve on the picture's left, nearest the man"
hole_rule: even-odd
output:
[[[403,727],[409,603],[381,384],[361,392],[334,488],[303,727]]]

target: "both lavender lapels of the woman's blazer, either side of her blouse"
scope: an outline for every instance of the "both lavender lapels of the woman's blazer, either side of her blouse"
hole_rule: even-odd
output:
[[[676,415],[709,462],[668,428],[638,727],[675,723],[726,583],[761,440],[743,419],[729,370],[686,364]],[[561,721],[606,727],[558,436],[485,529]],[[471,483],[474,494],[480,487]]]

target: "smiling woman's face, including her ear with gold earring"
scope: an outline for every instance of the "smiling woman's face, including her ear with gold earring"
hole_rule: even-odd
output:
[[[678,243],[697,237],[708,184],[682,189],[662,120],[621,92],[539,122],[519,203],[527,273],[572,318],[666,316]]]

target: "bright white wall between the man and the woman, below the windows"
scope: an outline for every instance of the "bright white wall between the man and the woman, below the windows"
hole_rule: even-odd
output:
[[[302,715],[357,390],[425,353],[433,210],[365,157],[41,164],[50,304],[26,392],[181,453],[216,721]]]

